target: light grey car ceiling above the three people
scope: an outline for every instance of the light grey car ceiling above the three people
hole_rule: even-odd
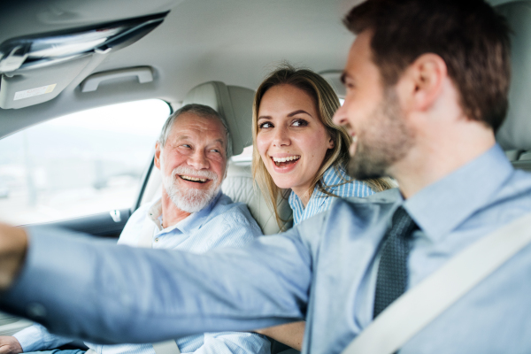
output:
[[[90,73],[150,65],[154,81],[111,81],[82,93],[73,81],[57,98],[0,109],[0,136],[100,105],[161,98],[178,107],[189,89],[223,81],[256,89],[288,60],[316,72],[339,71],[353,36],[342,17],[361,0],[20,0],[1,4],[0,43],[112,20],[170,11],[150,34],[111,52]],[[502,4],[506,0],[492,0]],[[6,2],[3,2],[6,3]]]

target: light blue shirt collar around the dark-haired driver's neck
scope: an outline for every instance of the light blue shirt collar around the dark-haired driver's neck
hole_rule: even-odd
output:
[[[513,171],[504,150],[496,144],[442,180],[421,189],[404,202],[404,208],[427,237],[437,240],[487,204]]]

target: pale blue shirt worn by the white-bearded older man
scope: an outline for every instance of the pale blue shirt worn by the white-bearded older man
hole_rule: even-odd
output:
[[[203,210],[192,213],[172,227],[162,227],[161,214],[160,199],[140,207],[127,220],[119,244],[136,246],[146,223],[153,226],[153,249],[186,250],[197,254],[218,247],[242,247],[262,235],[247,206],[242,203],[232,203],[231,199],[222,193],[219,193]],[[25,352],[50,350],[72,342],[69,338],[50,334],[40,325],[27,327],[14,336]],[[98,354],[155,354],[150,343],[100,345],[87,342],[86,344]],[[266,337],[250,333],[189,335],[178,339],[177,345],[181,353],[270,353],[270,342]]]

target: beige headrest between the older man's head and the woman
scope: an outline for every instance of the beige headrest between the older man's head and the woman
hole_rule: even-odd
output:
[[[233,154],[252,144],[252,102],[255,92],[220,81],[205,82],[191,89],[183,104],[204,104],[212,107],[227,122],[233,141]]]

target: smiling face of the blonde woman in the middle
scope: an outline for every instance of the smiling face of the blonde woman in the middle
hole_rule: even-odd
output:
[[[301,197],[333,147],[315,102],[302,89],[277,85],[262,96],[257,148],[278,187]]]

